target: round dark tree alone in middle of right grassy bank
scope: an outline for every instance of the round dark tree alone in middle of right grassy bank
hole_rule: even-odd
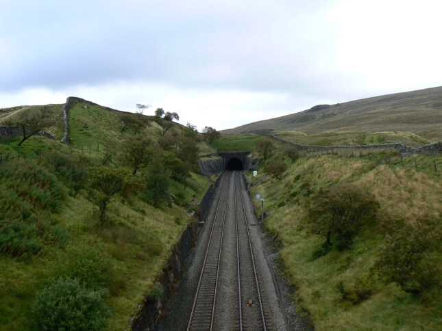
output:
[[[345,248],[365,220],[376,217],[379,208],[373,194],[354,184],[339,183],[330,189],[320,189],[308,209],[308,221],[313,233],[324,235],[326,243],[334,237]]]

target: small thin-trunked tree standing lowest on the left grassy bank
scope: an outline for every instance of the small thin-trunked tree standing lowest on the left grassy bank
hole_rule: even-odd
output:
[[[99,207],[101,224],[106,220],[106,208],[113,196],[127,188],[126,178],[123,170],[104,166],[90,168],[88,200]]]

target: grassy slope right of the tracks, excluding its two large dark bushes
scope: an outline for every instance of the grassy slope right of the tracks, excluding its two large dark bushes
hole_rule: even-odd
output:
[[[281,157],[275,155],[273,159]],[[428,263],[427,272],[435,274],[437,280],[422,291],[404,291],[376,269],[386,247],[400,247],[397,242],[389,246],[394,233],[390,237],[384,230],[393,226],[394,220],[419,229],[425,228],[420,222],[429,217],[436,225],[426,228],[428,233],[420,238],[441,235],[442,157],[417,157],[417,162],[428,158],[438,165],[437,172],[431,167],[418,171],[412,166],[402,168],[400,162],[379,164],[368,157],[324,155],[294,161],[284,157],[288,168],[281,180],[272,176],[251,189],[252,196],[261,194],[266,198],[264,226],[280,250],[284,273],[295,285],[299,310],[310,314],[317,330],[439,330],[440,240],[435,250],[425,253],[423,262]],[[413,164],[413,157],[404,161]],[[260,168],[258,174],[263,176],[265,169]],[[328,248],[324,246],[326,237],[315,234],[308,211],[321,190],[342,183],[370,192],[380,208],[378,217],[365,221],[358,230],[350,247],[340,247],[335,238],[334,246]],[[260,214],[258,203],[256,210]],[[395,228],[395,233],[401,230]],[[409,240],[415,240],[413,233],[402,237],[402,243],[418,247],[417,242]]]

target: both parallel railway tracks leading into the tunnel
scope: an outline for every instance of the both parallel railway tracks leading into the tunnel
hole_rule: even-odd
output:
[[[231,176],[234,176],[234,187],[229,187]],[[249,233],[249,222],[245,212],[243,197],[242,172],[232,172],[223,176],[221,194],[216,202],[217,211],[211,228],[210,239],[206,250],[203,267],[199,278],[197,293],[193,303],[191,318],[187,330],[214,330],[214,314],[217,302],[228,300],[232,307],[230,328],[236,330],[271,330],[271,319],[262,303],[258,282],[258,271],[254,261],[253,246]],[[245,190],[245,189],[244,189]],[[232,194],[233,192],[233,194]],[[229,194],[230,193],[230,194]],[[233,196],[229,199],[230,196]],[[214,207],[214,204],[212,204]],[[234,209],[234,217],[226,217],[228,209]],[[232,213],[230,213],[232,215]],[[231,222],[234,222],[232,224]],[[253,221],[254,222],[254,221]],[[219,266],[221,259],[229,260],[223,253],[224,228],[236,227],[236,295],[217,297],[219,286]],[[224,254],[224,255],[223,255]],[[233,265],[231,264],[233,267]],[[225,284],[224,284],[225,285]],[[224,326],[226,328],[227,326]]]

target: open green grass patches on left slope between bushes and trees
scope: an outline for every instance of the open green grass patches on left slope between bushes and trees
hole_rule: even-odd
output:
[[[71,162],[79,161],[87,168],[88,165],[96,165],[100,160],[106,142],[119,142],[124,135],[131,134],[121,133],[117,113],[98,106],[83,106],[77,104],[71,109],[71,146],[38,136],[29,138],[22,146],[17,146],[19,138],[0,142],[0,167],[8,165],[14,170],[20,168],[19,164],[36,164],[40,167],[36,168],[38,176],[46,176],[42,177],[45,180],[33,184],[36,188],[31,190],[27,188],[29,185],[25,178],[21,186],[11,175],[0,181],[0,186],[10,185],[8,187],[19,192],[18,196],[23,196],[26,201],[34,204],[32,210],[37,228],[35,230],[29,222],[31,227],[24,235],[37,236],[42,246],[40,252],[31,252],[26,256],[0,254],[1,330],[32,328],[30,310],[36,292],[51,281],[60,261],[66,261],[68,248],[91,245],[103,247],[103,254],[116,269],[118,277],[106,299],[112,308],[108,329],[124,330],[145,295],[154,288],[167,253],[191,220],[190,211],[195,210],[197,202],[210,185],[208,178],[191,173],[185,189],[182,183],[171,183],[170,193],[175,197],[175,203],[165,204],[159,209],[143,202],[136,195],[117,196],[108,207],[108,223],[99,226],[97,207],[86,200],[86,191],[81,188],[83,186],[79,185],[78,188],[71,181],[75,168],[57,170],[44,161],[45,155],[61,153]],[[180,132],[178,124],[171,129],[173,130]],[[160,127],[151,122],[147,124],[143,134],[152,140],[158,140],[161,135]],[[200,146],[206,148],[206,151],[212,150],[204,143]],[[31,170],[29,176],[25,177],[33,178],[34,172]],[[45,199],[48,194],[54,194],[54,189],[39,189],[39,185],[47,188],[47,178],[56,178],[54,181],[64,191],[64,195],[56,199],[57,208],[54,211],[44,207],[47,202]],[[28,191],[29,197],[26,195]],[[1,194],[10,194],[10,191],[2,189]],[[5,202],[3,198],[5,197],[2,196],[2,202]],[[7,200],[12,203],[10,198]],[[25,208],[21,205],[13,207]]]

